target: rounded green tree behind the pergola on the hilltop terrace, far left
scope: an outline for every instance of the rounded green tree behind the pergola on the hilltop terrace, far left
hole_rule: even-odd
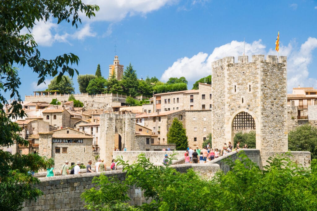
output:
[[[58,90],[61,94],[73,94],[75,92],[73,79],[68,76],[63,76],[60,81],[57,80],[58,76],[51,80],[48,85],[49,90]]]

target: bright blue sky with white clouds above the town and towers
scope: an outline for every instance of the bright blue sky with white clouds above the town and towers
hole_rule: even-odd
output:
[[[226,56],[288,56],[288,93],[298,85],[317,87],[317,1],[211,0],[83,0],[97,4],[96,17],[82,18],[76,30],[56,20],[37,23],[32,34],[43,58],[72,52],[79,56],[80,74],[94,74],[100,64],[108,76],[116,52],[138,78],[156,76],[166,82],[184,76],[188,89],[211,74],[211,62]],[[37,76],[20,67],[20,94],[45,90]],[[74,76],[75,92],[79,92]]]

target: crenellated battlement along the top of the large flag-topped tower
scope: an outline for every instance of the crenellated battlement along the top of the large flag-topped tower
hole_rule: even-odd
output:
[[[277,56],[273,55],[267,55],[266,59],[264,55],[252,55],[252,62],[268,62],[272,64],[285,64],[287,63],[287,57],[286,56],[280,56],[277,59]],[[222,59],[218,59],[216,61],[213,61],[211,63],[212,68],[219,67],[223,64],[235,64],[235,58],[234,57],[224,57]],[[238,56],[238,63],[249,63],[249,57],[248,56]]]

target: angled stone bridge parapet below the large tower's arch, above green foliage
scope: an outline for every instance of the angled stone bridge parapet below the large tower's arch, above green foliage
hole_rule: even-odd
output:
[[[243,151],[250,160],[252,160],[254,163],[256,163],[258,166],[260,166],[261,164],[261,154],[260,154],[260,150],[259,149],[238,149],[238,152]],[[233,151],[231,153],[228,153],[226,155],[223,155],[219,158],[216,158],[214,160],[211,160],[207,163],[214,163],[214,164],[218,164],[220,169],[224,172],[227,173],[230,168],[229,166],[225,163],[225,158],[230,158],[230,160],[235,161],[238,158],[238,152],[237,151]]]

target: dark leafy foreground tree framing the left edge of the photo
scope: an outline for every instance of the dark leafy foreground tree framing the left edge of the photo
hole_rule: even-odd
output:
[[[98,6],[86,5],[81,0],[1,1],[0,90],[13,99],[10,117],[24,116],[22,99],[18,92],[21,82],[17,68],[13,65],[31,68],[38,77],[38,85],[48,76],[57,76],[56,81],[60,82],[65,73],[71,77],[74,76],[74,72],[78,74],[78,71],[71,66],[78,65],[79,58],[76,55],[69,53],[52,59],[42,58],[33,36],[21,34],[21,30],[31,31],[35,22],[46,22],[49,18],[56,18],[57,24],[71,22],[77,28],[77,23],[81,23],[80,14],[83,13],[90,18],[95,15],[94,11],[98,10]],[[20,210],[23,201],[36,201],[36,197],[42,194],[35,188],[39,180],[28,172],[46,169],[53,161],[37,154],[12,155],[2,150],[3,147],[11,146],[13,143],[28,145],[28,141],[17,135],[21,128],[3,111],[3,105],[7,104],[3,92],[0,92],[0,210]]]

